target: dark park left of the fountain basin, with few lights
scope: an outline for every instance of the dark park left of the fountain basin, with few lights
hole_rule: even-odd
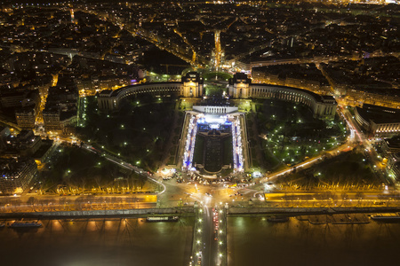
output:
[[[173,146],[168,145],[171,134],[180,134],[183,115],[175,117],[180,113],[175,104],[174,98],[143,96],[126,102],[118,113],[100,113],[97,99],[89,98],[86,124],[78,134],[92,145],[154,171],[161,166],[164,154],[170,153],[166,149]],[[172,137],[173,142],[178,140]]]

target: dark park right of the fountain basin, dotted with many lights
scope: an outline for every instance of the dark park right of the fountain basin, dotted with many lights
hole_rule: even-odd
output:
[[[278,99],[256,99],[257,115],[248,125],[257,124],[263,139],[261,150],[273,169],[281,162],[293,165],[340,145],[347,136],[342,121],[322,121],[308,106]],[[247,116],[249,117],[249,116]],[[249,137],[252,130],[249,129]]]

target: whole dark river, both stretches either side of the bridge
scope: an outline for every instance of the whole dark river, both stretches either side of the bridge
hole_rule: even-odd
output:
[[[188,265],[194,218],[44,220],[0,229],[1,265]],[[228,265],[395,265],[400,223],[311,224],[228,217]]]

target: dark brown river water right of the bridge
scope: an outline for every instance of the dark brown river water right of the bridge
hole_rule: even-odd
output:
[[[228,265],[399,265],[400,223],[228,218]]]

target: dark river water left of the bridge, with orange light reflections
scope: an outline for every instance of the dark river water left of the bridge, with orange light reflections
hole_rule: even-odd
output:
[[[0,265],[188,265],[194,220],[42,223],[39,229],[0,229]]]

